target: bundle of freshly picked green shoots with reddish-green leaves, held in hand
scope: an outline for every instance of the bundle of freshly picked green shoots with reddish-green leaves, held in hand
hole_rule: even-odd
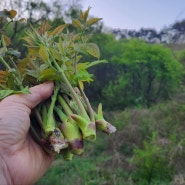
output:
[[[8,47],[6,29],[0,30],[0,62],[4,66],[0,70],[0,100],[12,94],[29,93],[30,87],[53,81],[51,98],[32,110],[30,132],[46,152],[63,154],[66,160],[71,160],[74,154],[83,154],[84,140],[95,141],[97,129],[107,134],[116,131],[104,119],[101,103],[95,112],[84,92],[84,82],[92,81],[87,70],[106,62],[99,60],[98,46],[88,42],[86,31],[100,20],[88,18],[89,10],[80,11],[79,18],[72,20],[76,32],[70,32],[67,24],[55,29],[47,22],[38,29],[31,27],[24,37],[28,52],[23,59],[18,51]],[[15,15],[15,10],[0,12],[3,28],[9,24],[7,19],[11,22]],[[83,62],[86,54],[96,60]]]

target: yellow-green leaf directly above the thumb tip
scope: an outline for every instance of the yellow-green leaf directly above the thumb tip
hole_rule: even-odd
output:
[[[44,69],[41,72],[41,75],[39,77],[39,81],[52,81],[52,80],[59,80],[59,75],[57,72],[52,68]]]

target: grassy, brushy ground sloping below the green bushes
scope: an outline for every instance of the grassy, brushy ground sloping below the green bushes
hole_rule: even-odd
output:
[[[181,96],[149,109],[107,113],[116,134],[98,132],[97,141],[85,143],[84,155],[71,162],[57,157],[36,185],[183,185],[184,103]]]

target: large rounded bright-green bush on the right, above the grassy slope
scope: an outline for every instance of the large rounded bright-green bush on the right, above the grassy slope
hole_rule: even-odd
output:
[[[182,65],[172,52],[162,45],[136,39],[125,41],[123,48],[120,60],[112,61],[117,65],[117,78],[103,89],[107,106],[149,107],[169,99],[183,75]]]

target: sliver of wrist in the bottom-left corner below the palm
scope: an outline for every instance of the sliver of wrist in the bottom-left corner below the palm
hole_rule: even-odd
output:
[[[3,185],[13,185],[10,172],[4,160],[0,157],[0,182]]]

